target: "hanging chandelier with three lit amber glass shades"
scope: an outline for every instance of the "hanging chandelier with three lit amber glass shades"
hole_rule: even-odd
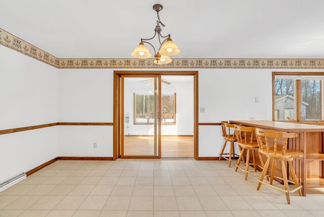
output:
[[[163,6],[160,4],[153,5],[153,10],[156,11],[157,18],[156,18],[156,26],[154,28],[154,35],[150,39],[141,39],[141,42],[134,51],[132,52],[132,56],[135,58],[140,58],[140,59],[147,59],[152,56],[152,54],[149,52],[148,48],[144,45],[144,43],[149,44],[153,50],[154,50],[154,63],[155,64],[168,64],[172,62],[173,60],[170,58],[170,56],[174,56],[179,54],[181,51],[171,39],[171,35],[168,34],[167,36],[162,36],[161,35],[161,26],[165,26],[161,21],[158,13],[163,9]],[[160,26],[161,24],[161,26]],[[155,38],[157,35],[158,37],[158,42],[160,44],[160,47],[158,48],[158,51],[156,52],[154,46],[149,43],[148,41],[152,40]],[[164,40],[163,40],[164,39]],[[161,40],[163,40],[161,42]]]

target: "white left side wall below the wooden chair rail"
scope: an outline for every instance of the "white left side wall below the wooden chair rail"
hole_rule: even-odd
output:
[[[0,135],[0,182],[58,157],[58,127]]]

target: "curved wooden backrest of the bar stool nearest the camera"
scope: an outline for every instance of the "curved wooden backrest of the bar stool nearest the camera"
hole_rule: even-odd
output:
[[[281,155],[286,154],[286,150],[288,148],[288,138],[297,137],[296,133],[277,132],[274,130],[264,130],[260,128],[256,128],[256,135],[260,150],[269,152],[269,140],[273,139],[273,152],[276,154],[277,146],[281,146]]]

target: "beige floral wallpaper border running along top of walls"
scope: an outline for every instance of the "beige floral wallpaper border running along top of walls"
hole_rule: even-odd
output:
[[[290,68],[324,69],[324,59],[174,59],[157,65],[154,59],[57,58],[0,28],[0,44],[56,68]]]

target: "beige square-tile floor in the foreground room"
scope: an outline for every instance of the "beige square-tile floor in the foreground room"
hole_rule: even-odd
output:
[[[324,216],[307,197],[262,186],[227,161],[57,161],[0,193],[0,216]]]

